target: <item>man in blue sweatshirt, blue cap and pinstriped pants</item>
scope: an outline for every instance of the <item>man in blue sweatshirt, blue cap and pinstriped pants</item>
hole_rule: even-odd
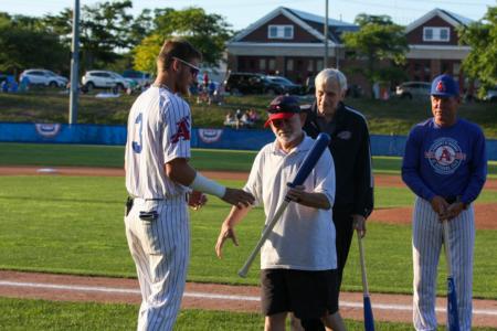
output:
[[[461,330],[472,328],[473,201],[487,175],[482,129],[457,117],[457,83],[448,75],[435,77],[431,89],[433,117],[409,134],[402,179],[417,195],[413,213],[414,298],[416,330],[436,330],[435,295],[442,221],[450,221],[452,273],[457,291]]]

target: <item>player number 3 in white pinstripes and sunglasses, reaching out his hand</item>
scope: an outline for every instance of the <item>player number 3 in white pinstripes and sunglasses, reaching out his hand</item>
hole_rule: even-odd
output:
[[[237,207],[254,199],[204,178],[190,159],[190,107],[180,97],[197,79],[201,54],[182,40],[166,41],[155,84],[135,102],[128,118],[125,170],[130,195],[126,237],[142,302],[138,330],[171,330],[184,290],[190,254],[188,204],[213,194]],[[187,193],[193,190],[187,204]]]

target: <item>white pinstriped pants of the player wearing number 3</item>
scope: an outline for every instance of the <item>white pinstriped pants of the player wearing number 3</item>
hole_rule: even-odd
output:
[[[139,218],[140,211],[157,211],[158,218],[144,221]],[[184,195],[167,201],[135,199],[125,225],[142,298],[137,330],[172,330],[190,257],[189,212]]]

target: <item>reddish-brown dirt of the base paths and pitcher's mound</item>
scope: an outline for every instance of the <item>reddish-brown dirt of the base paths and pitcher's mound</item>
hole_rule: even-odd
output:
[[[203,174],[216,179],[246,180],[246,172],[211,172]],[[123,177],[124,170],[105,168],[41,168],[0,167],[0,175],[108,175]],[[376,175],[378,186],[404,186],[398,175]],[[488,180],[484,190],[497,190],[497,180]],[[475,204],[477,228],[497,228],[493,216],[497,204]],[[410,223],[411,207],[376,210],[370,222],[392,224]],[[252,286],[225,286],[213,284],[187,285],[182,308],[226,311],[258,311],[258,288]],[[139,303],[140,295],[136,279],[80,277],[39,273],[0,271],[0,296],[39,298],[46,300],[97,301]],[[371,295],[374,318],[378,321],[412,321],[412,297],[399,295]],[[362,319],[362,293],[340,295],[341,312],[348,319]],[[445,321],[445,299],[437,299],[438,321]],[[497,301],[474,300],[474,325],[497,325]]]

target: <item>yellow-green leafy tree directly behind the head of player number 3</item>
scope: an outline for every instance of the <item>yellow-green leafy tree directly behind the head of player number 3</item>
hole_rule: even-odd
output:
[[[201,8],[156,9],[151,35],[135,47],[135,68],[156,71],[156,57],[163,41],[180,36],[191,42],[203,55],[202,62],[218,65],[224,44],[231,38],[230,24],[219,14],[207,14]]]

